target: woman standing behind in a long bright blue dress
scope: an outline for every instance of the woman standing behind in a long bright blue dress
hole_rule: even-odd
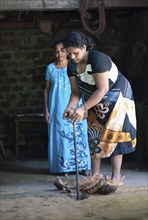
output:
[[[48,124],[48,160],[51,174],[74,172],[75,154],[73,124],[64,120],[63,112],[70,99],[71,87],[67,76],[67,52],[62,41],[54,45],[56,62],[46,69],[44,90],[45,120]],[[82,100],[78,106],[82,104]],[[91,169],[87,136],[87,120],[76,123],[78,169]]]

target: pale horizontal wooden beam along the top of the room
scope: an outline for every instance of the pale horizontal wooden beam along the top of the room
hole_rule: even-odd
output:
[[[98,7],[99,0],[84,1],[88,1],[90,9]],[[107,9],[148,7],[148,0],[104,0],[104,5]],[[67,11],[78,10],[78,8],[79,0],[0,0],[0,11]]]

